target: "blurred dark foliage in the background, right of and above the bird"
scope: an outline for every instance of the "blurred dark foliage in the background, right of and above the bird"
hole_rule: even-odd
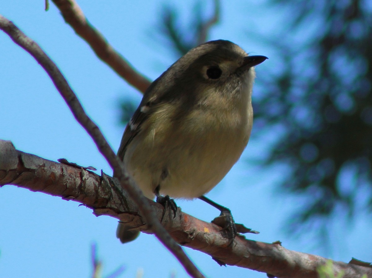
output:
[[[275,131],[264,135],[276,138],[260,163],[289,166],[279,191],[307,197],[289,218],[289,230],[308,229],[304,223],[319,220],[325,224],[337,208],[349,219],[356,207],[371,211],[372,5],[359,0],[267,1],[276,13],[288,16],[276,35],[266,39],[278,53],[273,57],[277,66],[260,75],[264,86],[253,98],[254,128]],[[203,19],[202,1],[198,3],[190,20],[195,28],[183,28],[176,11],[164,7],[161,31],[177,54],[201,43],[201,30],[212,26],[203,28],[211,20]],[[218,1],[215,7],[218,18]]]

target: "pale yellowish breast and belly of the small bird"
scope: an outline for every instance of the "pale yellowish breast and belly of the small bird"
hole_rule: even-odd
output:
[[[195,109],[182,124],[170,122],[165,107],[151,116],[124,159],[147,197],[153,197],[159,184],[160,193],[173,198],[197,198],[217,185],[239,159],[250,135],[251,104],[236,105],[233,113]],[[161,180],[164,169],[168,175]]]

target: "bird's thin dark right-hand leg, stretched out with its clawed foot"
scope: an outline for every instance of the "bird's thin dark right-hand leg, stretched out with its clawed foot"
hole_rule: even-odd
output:
[[[237,235],[237,229],[235,226],[234,218],[232,218],[231,211],[223,207],[222,205],[217,204],[216,202],[208,199],[205,196],[200,196],[199,199],[208,203],[212,207],[217,208],[217,210],[221,211],[219,217],[214,218],[212,223],[222,227],[222,231],[225,231],[224,237],[229,239],[229,245],[234,241],[235,236]]]

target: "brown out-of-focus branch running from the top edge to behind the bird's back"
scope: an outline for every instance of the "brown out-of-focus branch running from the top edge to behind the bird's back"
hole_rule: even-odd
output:
[[[64,20],[84,39],[96,55],[108,64],[126,82],[144,93],[151,82],[136,71],[133,66],[107,42],[84,16],[75,0],[52,0],[60,10]]]

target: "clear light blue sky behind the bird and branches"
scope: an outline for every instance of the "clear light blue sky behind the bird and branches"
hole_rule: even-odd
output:
[[[159,1],[80,0],[78,4],[110,44],[150,79],[158,77],[176,60],[157,35]],[[179,9],[186,13],[192,6],[182,5]],[[119,123],[118,103],[128,96],[139,102],[141,95],[96,58],[64,23],[53,3],[45,12],[42,0],[1,1],[0,13],[38,42],[58,65],[116,151],[124,131]],[[278,59],[273,49],[247,33],[270,36],[284,17],[284,12],[270,9],[263,2],[222,1],[222,20],[212,29],[210,39],[229,39],[248,52],[269,57],[256,68],[256,90],[264,86],[260,75],[265,68],[275,67]],[[0,138],[45,159],[66,158],[79,165],[103,169],[110,175],[105,159],[74,120],[38,63],[3,32],[0,32],[0,51]],[[264,150],[264,144],[250,141],[242,159],[208,197],[229,207],[238,223],[261,232],[248,235],[250,239],[280,240],[288,249],[329,256],[337,261],[349,261],[352,256],[371,261],[372,225],[367,223],[365,215],[351,223],[341,221],[344,216],[337,215],[330,222],[331,248],[327,252],[317,245],[320,239],[311,231],[300,238],[284,233],[284,221],[303,199],[275,191],[282,168],[261,169],[247,162],[249,157]],[[177,205],[206,221],[219,213],[199,200],[179,200]],[[122,277],[136,277],[138,271],[143,272],[143,277],[170,277],[171,273],[187,277],[154,236],[141,234],[134,242],[121,245],[115,237],[115,219],[95,217],[91,210],[78,207],[76,202],[7,185],[0,189],[0,211],[0,277],[89,277],[93,242],[97,243],[103,261],[104,275],[124,264]],[[234,266],[220,267],[208,255],[186,248],[185,251],[208,277],[266,277]]]

